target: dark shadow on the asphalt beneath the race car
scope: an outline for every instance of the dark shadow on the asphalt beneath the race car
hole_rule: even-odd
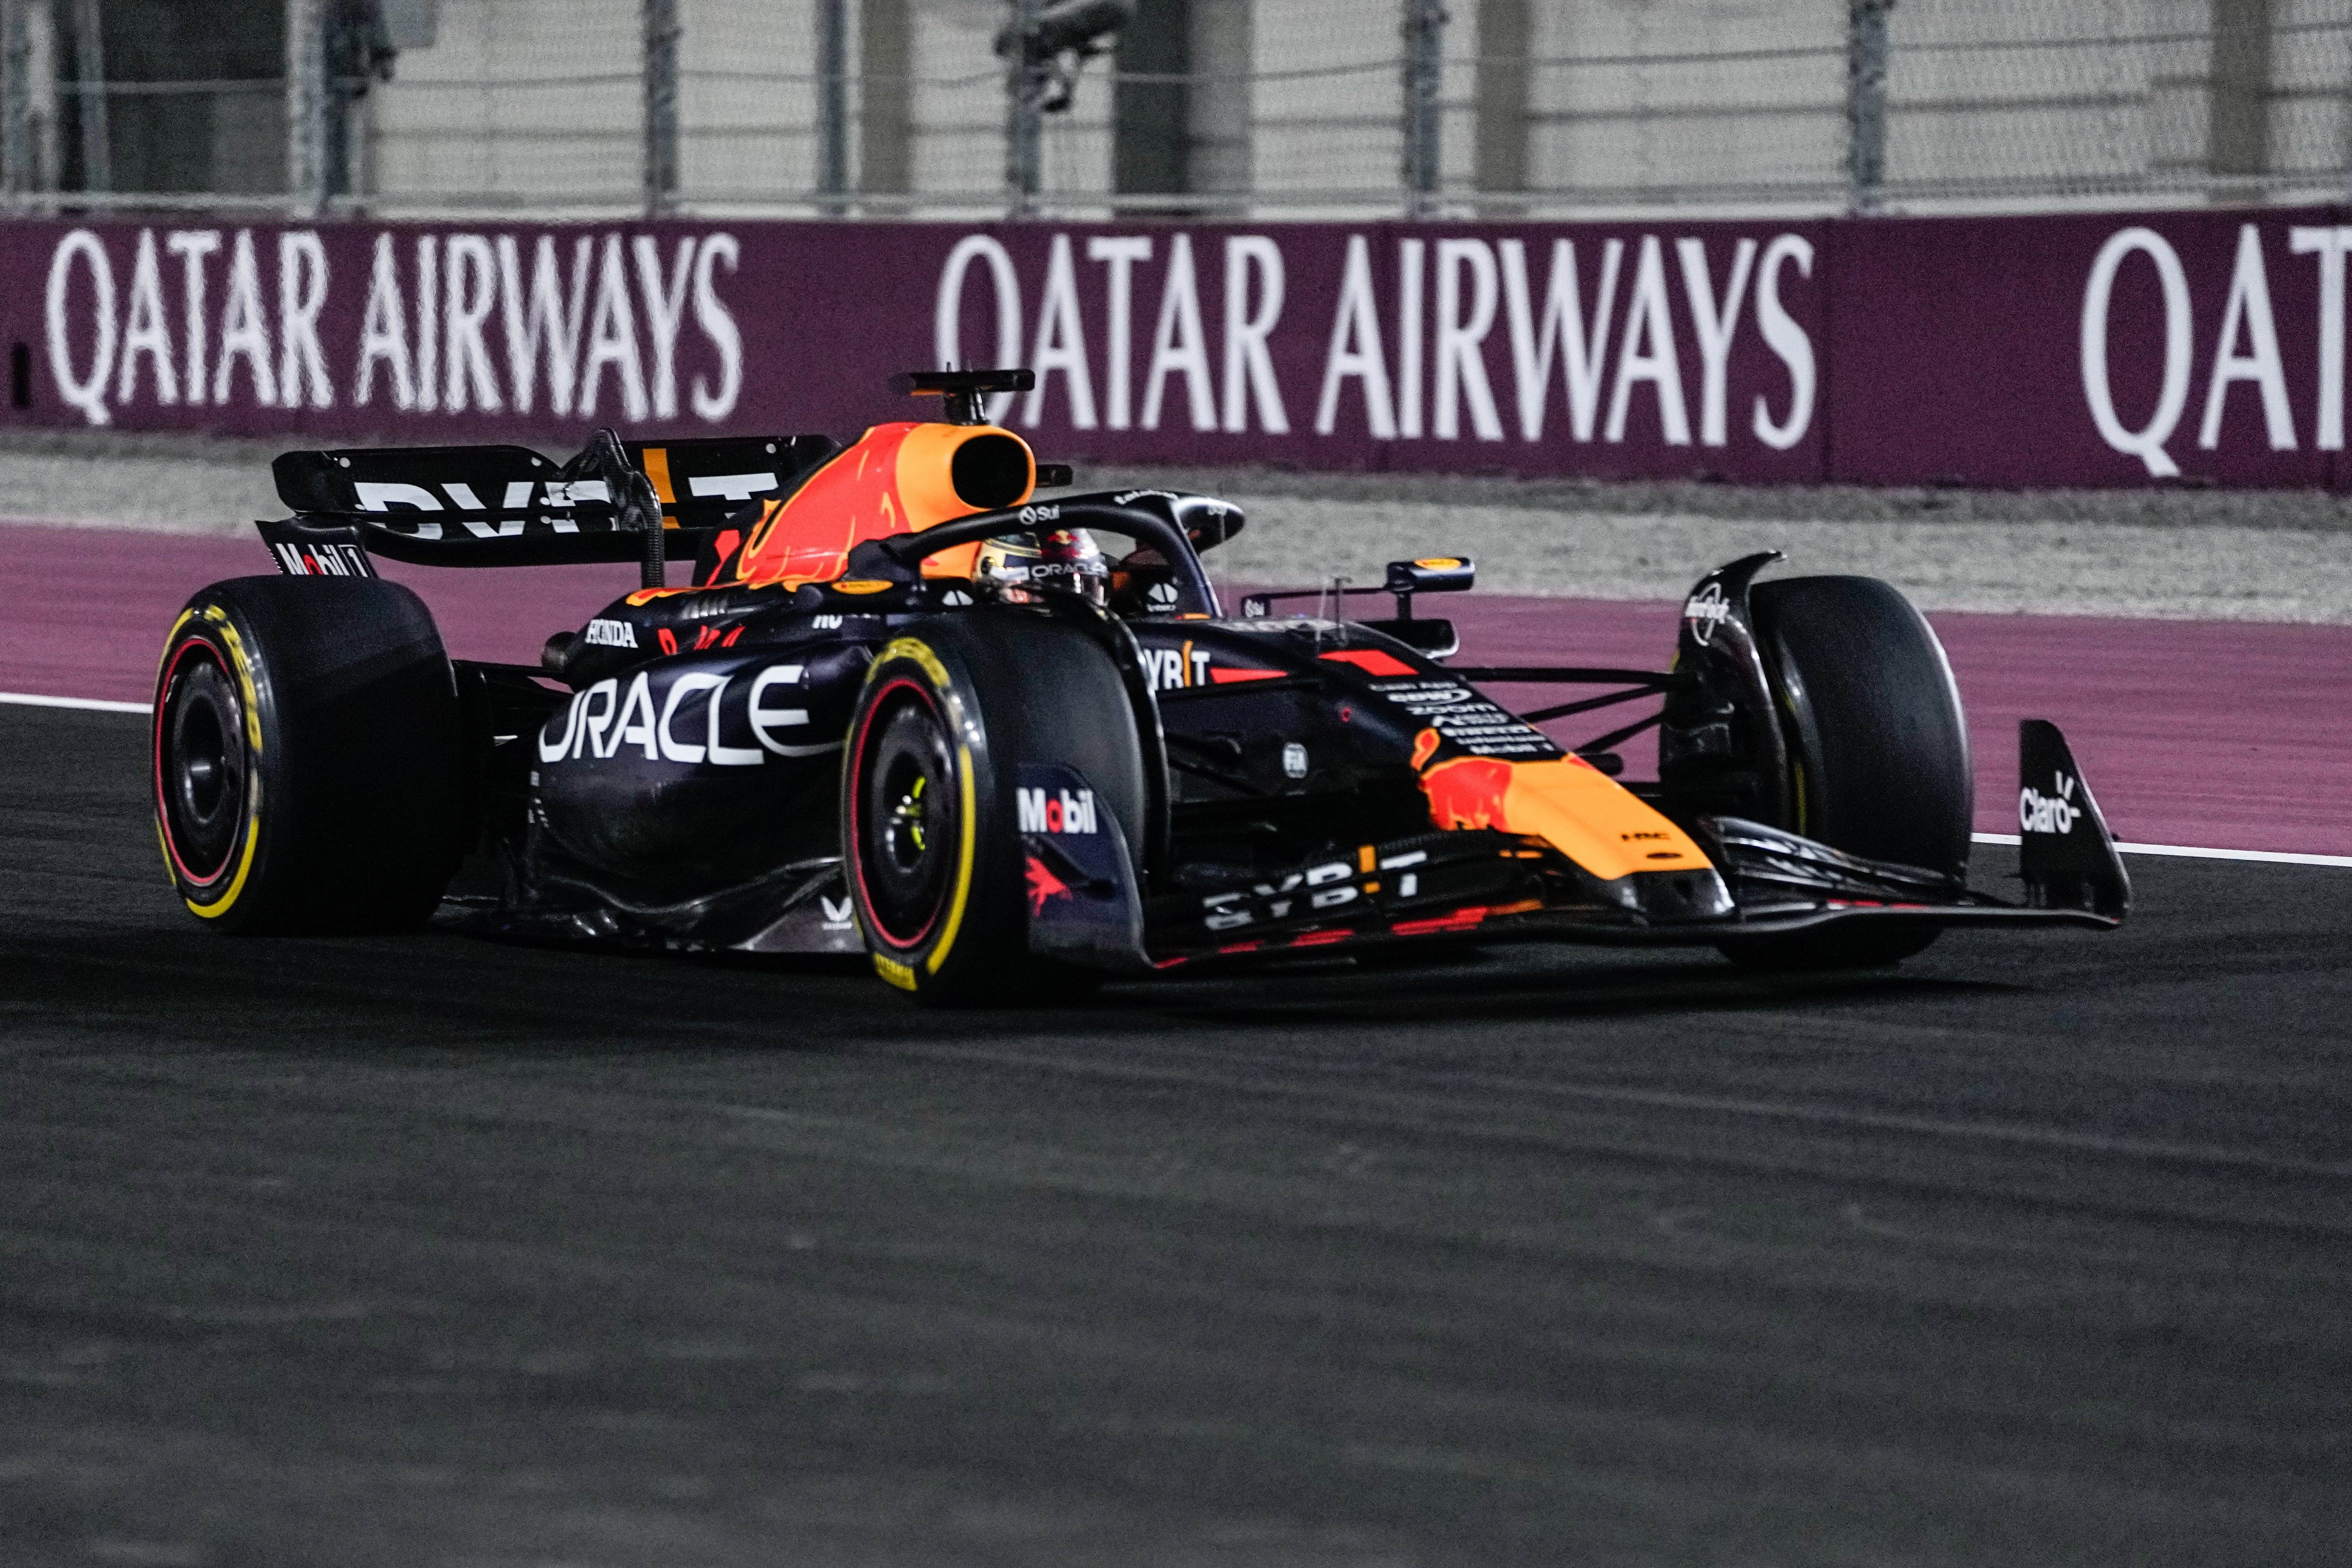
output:
[[[1783,1013],[2032,985],[1931,973],[1757,976],[1715,957],[1503,947],[1411,969],[1345,959],[1112,983],[1056,1006],[917,1009],[861,959],[682,957],[400,938],[223,940],[143,926],[0,945],[0,1020],[153,1046],[466,1053],[854,1051],[1174,1030],[1428,1027]]]

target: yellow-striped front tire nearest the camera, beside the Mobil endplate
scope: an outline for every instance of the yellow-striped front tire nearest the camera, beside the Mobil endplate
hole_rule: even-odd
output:
[[[875,973],[917,1001],[1047,1001],[1101,980],[1030,957],[1025,762],[1075,769],[1143,844],[1134,708],[1082,628],[981,609],[917,621],[875,656],[842,759],[842,870]]]

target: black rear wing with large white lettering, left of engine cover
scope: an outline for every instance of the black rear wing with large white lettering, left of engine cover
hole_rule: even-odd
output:
[[[294,517],[261,536],[296,576],[365,574],[365,557],[423,567],[553,567],[691,552],[729,515],[800,489],[840,444],[823,435],[623,442],[579,456],[529,447],[287,451],[270,463]],[[677,538],[684,534],[684,538]]]

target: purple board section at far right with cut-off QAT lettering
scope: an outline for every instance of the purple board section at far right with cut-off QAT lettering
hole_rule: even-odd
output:
[[[1832,230],[1835,480],[2333,484],[2345,247],[2317,209]]]

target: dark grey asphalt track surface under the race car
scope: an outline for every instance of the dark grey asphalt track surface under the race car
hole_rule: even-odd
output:
[[[0,811],[12,1568],[2343,1563],[2345,870],[931,1016],[214,938],[134,715]]]

